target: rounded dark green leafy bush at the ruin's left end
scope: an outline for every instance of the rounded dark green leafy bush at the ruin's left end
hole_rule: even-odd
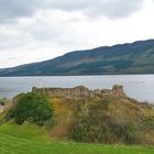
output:
[[[11,118],[14,118],[18,124],[28,121],[43,125],[53,118],[53,108],[44,95],[28,92],[19,97],[11,111]]]

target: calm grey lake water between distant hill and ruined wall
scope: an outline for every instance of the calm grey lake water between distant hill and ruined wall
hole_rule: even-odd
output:
[[[154,102],[154,75],[0,77],[0,97],[12,98],[35,87],[86,86],[90,89],[123,85],[124,92],[138,100]]]

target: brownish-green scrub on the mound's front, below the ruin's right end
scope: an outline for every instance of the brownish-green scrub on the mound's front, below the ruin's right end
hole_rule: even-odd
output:
[[[69,127],[70,138],[77,142],[139,143],[135,123],[117,117],[110,109],[111,105],[116,105],[114,100],[116,98],[105,97],[89,102],[88,112],[80,110]]]

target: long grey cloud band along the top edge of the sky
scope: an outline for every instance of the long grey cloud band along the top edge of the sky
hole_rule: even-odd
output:
[[[144,0],[0,0],[0,23],[33,15],[37,10],[82,11],[89,16],[123,18],[141,9]]]

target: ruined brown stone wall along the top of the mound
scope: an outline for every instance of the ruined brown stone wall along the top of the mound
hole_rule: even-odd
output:
[[[114,96],[114,97],[122,97],[123,95],[123,86],[114,85],[112,89],[96,89],[89,90],[84,86],[78,86],[75,88],[36,88],[33,87],[32,91],[43,92],[48,97],[63,97],[66,99],[73,100],[82,100],[82,99],[90,99],[95,96]]]

